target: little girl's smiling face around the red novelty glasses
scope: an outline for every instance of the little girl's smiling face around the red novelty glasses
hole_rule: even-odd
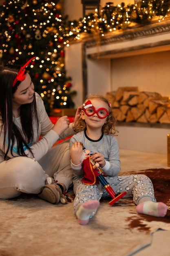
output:
[[[101,101],[99,99],[90,99],[92,105],[95,107],[95,110],[99,108],[106,108],[108,110],[108,105],[106,102]],[[87,126],[94,128],[102,128],[102,126],[106,123],[107,117],[101,119],[98,117],[97,113],[94,112],[92,116],[86,115],[84,110],[82,110],[82,119],[86,122]]]

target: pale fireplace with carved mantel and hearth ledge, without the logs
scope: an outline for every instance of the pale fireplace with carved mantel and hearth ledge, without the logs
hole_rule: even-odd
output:
[[[168,18],[161,22],[155,18],[148,25],[134,25],[100,40],[84,35],[68,48],[66,69],[77,88],[82,84],[83,97],[90,93],[106,95],[125,87],[170,97]],[[77,101],[82,103],[81,97],[80,92]],[[123,120],[117,122],[117,130],[120,148],[166,154],[169,123]]]

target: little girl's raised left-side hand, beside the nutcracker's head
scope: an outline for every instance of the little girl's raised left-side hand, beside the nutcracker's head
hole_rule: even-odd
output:
[[[83,148],[80,142],[76,141],[75,143],[73,143],[73,145],[71,146],[70,154],[71,154],[71,162],[73,164],[77,165],[81,163],[80,159],[83,154]]]

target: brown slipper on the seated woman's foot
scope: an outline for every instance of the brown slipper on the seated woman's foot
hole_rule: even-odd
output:
[[[57,204],[58,202],[60,202],[61,195],[62,190],[60,189],[60,186],[54,183],[50,185],[45,185],[42,188],[42,192],[38,194],[38,197],[48,202],[51,202],[52,204]]]

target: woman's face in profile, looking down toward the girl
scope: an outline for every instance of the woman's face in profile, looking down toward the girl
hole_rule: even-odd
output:
[[[31,81],[31,77],[26,73],[24,81],[20,83],[17,90],[13,94],[13,105],[20,107],[23,104],[33,102],[34,85]]]

